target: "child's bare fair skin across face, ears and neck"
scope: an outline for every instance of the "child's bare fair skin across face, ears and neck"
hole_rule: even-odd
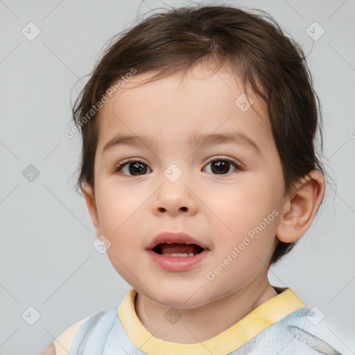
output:
[[[297,241],[309,229],[324,180],[319,171],[311,171],[285,196],[266,107],[248,93],[253,105],[242,112],[234,101],[244,90],[227,69],[214,73],[198,65],[184,80],[178,73],[136,87],[151,75],[136,74],[102,107],[95,188],[84,184],[83,191],[96,236],[105,236],[107,246],[110,241],[112,265],[137,290],[135,309],[144,327],[155,338],[198,343],[277,295],[267,277],[277,239]],[[242,132],[261,155],[234,143],[190,148],[187,142],[195,131]],[[102,155],[117,134],[152,135],[157,146],[115,146]],[[216,173],[210,160],[220,155],[243,168],[230,164],[227,173]],[[130,175],[128,165],[114,173],[130,157],[146,164],[146,173]],[[172,163],[182,171],[176,182],[164,175]],[[273,210],[278,216],[214,280],[207,279],[207,272]],[[205,243],[207,257],[182,272],[160,268],[145,249],[164,231],[182,231]],[[164,317],[171,306],[182,315],[175,324]]]

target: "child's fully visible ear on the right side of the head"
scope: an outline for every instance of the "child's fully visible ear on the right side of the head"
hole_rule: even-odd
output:
[[[324,196],[324,178],[318,170],[305,175],[284,204],[276,237],[284,243],[301,239],[311,226]]]

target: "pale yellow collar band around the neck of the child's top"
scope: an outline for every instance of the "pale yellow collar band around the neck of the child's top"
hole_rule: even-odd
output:
[[[292,288],[282,290],[284,290],[282,293],[258,306],[232,327],[214,338],[196,344],[172,343],[150,334],[135,311],[137,291],[134,288],[131,288],[123,298],[118,315],[133,345],[146,354],[227,355],[248,343],[270,325],[305,306]]]

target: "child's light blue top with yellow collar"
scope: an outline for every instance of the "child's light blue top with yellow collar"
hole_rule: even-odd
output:
[[[56,355],[341,355],[340,340],[292,288],[279,293],[214,338],[181,344],[155,338],[135,312],[134,288],[118,309],[80,320],[55,339]],[[166,320],[168,322],[168,320]]]

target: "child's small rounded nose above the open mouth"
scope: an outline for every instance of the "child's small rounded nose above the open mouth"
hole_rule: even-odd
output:
[[[186,184],[186,179],[180,178],[171,182],[165,176],[160,180],[160,187],[153,195],[152,211],[157,216],[168,214],[177,216],[193,216],[198,209],[198,193]]]

